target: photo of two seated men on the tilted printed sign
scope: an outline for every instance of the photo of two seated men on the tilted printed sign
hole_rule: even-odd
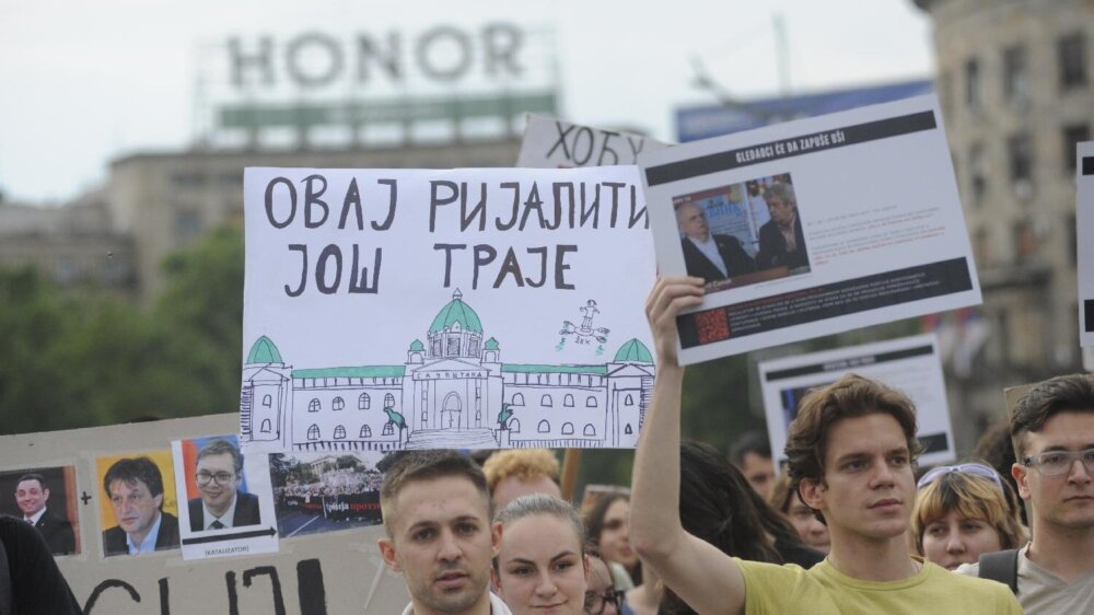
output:
[[[708,292],[810,272],[789,173],[682,195],[673,207],[684,266]]]

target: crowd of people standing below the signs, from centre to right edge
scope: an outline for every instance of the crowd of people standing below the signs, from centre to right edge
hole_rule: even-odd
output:
[[[394,462],[380,550],[405,614],[1094,612],[1094,378],[1033,386],[978,446],[992,459],[918,468],[911,401],[847,375],[802,399],[776,476],[756,438],[680,438],[675,322],[702,293],[661,279],[648,301],[659,364],[629,488],[579,510],[548,451]]]

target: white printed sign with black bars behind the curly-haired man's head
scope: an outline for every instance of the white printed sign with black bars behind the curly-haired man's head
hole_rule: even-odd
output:
[[[790,421],[798,416],[802,397],[811,390],[831,384],[848,373],[881,381],[903,391],[916,405],[922,465],[954,460],[953,428],[946,403],[942,359],[934,335],[917,335],[796,355],[759,363],[760,390],[771,451],[779,463],[787,445]]]

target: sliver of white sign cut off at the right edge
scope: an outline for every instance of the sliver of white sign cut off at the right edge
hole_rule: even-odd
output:
[[[1079,161],[1075,170],[1079,345],[1094,347],[1094,141],[1075,147],[1075,160]]]

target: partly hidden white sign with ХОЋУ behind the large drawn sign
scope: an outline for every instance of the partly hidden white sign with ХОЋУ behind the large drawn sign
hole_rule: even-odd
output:
[[[621,130],[601,130],[528,114],[516,166],[571,169],[635,164],[639,152],[667,147],[661,141]]]

